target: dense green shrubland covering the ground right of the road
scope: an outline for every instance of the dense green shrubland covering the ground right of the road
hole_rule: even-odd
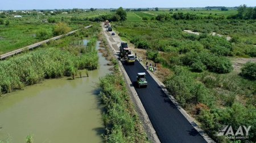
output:
[[[173,73],[162,79],[168,91],[210,137],[217,142],[255,142],[255,63],[233,71],[230,60],[255,57],[256,21],[234,16],[255,8],[222,9],[139,11],[141,18],[151,15],[141,21],[133,20],[128,12],[125,22],[112,26],[123,40],[147,50],[147,59]],[[248,140],[233,140],[216,136],[222,125],[232,125],[234,130],[240,125],[253,127]]]

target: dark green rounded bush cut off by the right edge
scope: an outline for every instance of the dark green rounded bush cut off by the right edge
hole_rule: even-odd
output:
[[[242,67],[240,75],[250,80],[256,80],[256,63],[247,62]]]

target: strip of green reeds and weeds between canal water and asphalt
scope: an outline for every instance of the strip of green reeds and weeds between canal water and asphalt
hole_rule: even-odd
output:
[[[117,64],[117,63],[116,63]],[[100,80],[106,142],[148,142],[119,71]]]

